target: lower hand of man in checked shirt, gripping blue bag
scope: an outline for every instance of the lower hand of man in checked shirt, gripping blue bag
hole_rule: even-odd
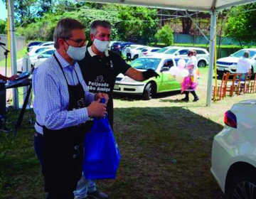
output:
[[[87,112],[89,117],[105,117],[107,104],[100,103],[100,99],[92,102],[89,107],[87,107]]]

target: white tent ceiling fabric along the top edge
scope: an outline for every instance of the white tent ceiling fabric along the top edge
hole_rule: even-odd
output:
[[[80,0],[86,1],[86,0]],[[255,0],[90,0],[87,2],[129,4],[134,6],[148,6],[164,9],[186,9],[191,11],[211,11],[229,9],[232,6],[250,4]]]

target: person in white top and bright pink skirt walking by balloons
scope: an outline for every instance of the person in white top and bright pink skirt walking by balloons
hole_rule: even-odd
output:
[[[193,50],[188,50],[188,57],[190,59],[185,66],[185,68],[188,70],[188,77],[185,77],[183,82],[181,83],[181,93],[184,93],[186,95],[186,97],[181,100],[186,102],[189,101],[189,92],[191,92],[194,97],[193,102],[199,100],[199,97],[196,95],[196,86],[198,85],[196,78],[197,62],[193,54]]]

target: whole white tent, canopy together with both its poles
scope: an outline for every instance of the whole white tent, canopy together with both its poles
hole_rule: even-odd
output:
[[[86,1],[86,0],[78,0]],[[10,27],[14,28],[14,0],[8,0],[9,2],[9,16],[12,20],[9,20]],[[127,4],[131,6],[146,6],[159,9],[179,9],[190,11],[208,11],[211,14],[210,18],[210,59],[209,59],[209,71],[208,71],[208,90],[207,90],[207,102],[206,105],[211,104],[212,85],[213,85],[213,63],[214,63],[214,45],[215,45],[215,33],[216,33],[216,16],[218,11],[223,9],[229,9],[232,6],[238,6],[242,4],[250,4],[255,0],[90,0],[87,2],[101,3],[101,4]],[[11,29],[10,28],[10,29]],[[12,72],[16,72],[16,50],[15,50],[15,35],[14,29],[10,30],[11,35],[11,68]],[[16,105],[14,99],[14,108]]]

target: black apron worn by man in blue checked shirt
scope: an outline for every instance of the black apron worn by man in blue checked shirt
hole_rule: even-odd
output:
[[[55,60],[60,65],[54,54]],[[63,72],[62,66],[60,69]],[[75,68],[74,68],[75,70]],[[76,72],[75,72],[76,73]],[[78,77],[78,74],[76,73]],[[65,77],[68,85],[68,80]],[[85,107],[85,91],[79,82],[78,85],[68,85],[68,111]],[[48,193],[71,192],[77,187],[82,176],[83,141],[85,132],[92,122],[67,127],[59,130],[50,130],[43,126],[43,146],[45,153],[45,189]]]

